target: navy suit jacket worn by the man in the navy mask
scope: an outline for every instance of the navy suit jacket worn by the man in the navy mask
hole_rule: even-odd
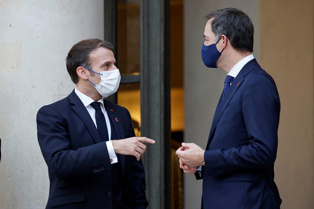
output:
[[[276,84],[255,59],[218,102],[204,153],[203,208],[277,209],[274,182],[280,101]]]

